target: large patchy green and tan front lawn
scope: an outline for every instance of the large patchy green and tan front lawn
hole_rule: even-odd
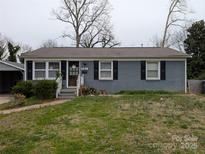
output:
[[[167,149],[198,137],[197,150]],[[153,144],[155,143],[155,144]],[[81,97],[0,116],[0,153],[203,153],[205,98],[182,94]]]

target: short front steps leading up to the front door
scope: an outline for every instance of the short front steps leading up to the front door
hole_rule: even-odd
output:
[[[77,96],[76,88],[62,89],[59,94],[59,99],[74,99]]]

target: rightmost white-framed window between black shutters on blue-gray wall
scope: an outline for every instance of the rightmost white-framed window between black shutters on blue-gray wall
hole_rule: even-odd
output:
[[[160,80],[160,62],[147,62],[147,80]]]

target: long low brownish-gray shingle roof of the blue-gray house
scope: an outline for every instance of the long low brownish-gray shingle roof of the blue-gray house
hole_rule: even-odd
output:
[[[188,58],[170,48],[40,48],[22,54],[23,58]]]

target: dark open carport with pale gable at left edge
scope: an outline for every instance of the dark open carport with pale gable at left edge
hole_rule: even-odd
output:
[[[0,94],[9,93],[24,77],[24,65],[0,60]]]

